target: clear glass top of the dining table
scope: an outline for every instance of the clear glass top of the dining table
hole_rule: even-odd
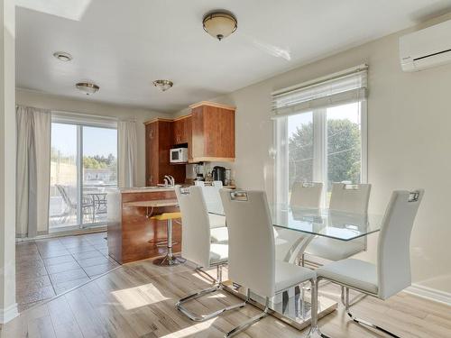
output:
[[[225,215],[219,203],[207,203],[208,213]],[[309,233],[340,241],[352,241],[381,230],[382,215],[361,215],[331,209],[270,205],[272,224],[277,228]]]

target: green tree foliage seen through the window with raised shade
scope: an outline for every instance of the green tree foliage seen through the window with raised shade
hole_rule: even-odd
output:
[[[312,181],[313,123],[304,123],[289,140],[290,187],[295,181]],[[361,140],[357,123],[327,121],[327,182],[360,182]]]

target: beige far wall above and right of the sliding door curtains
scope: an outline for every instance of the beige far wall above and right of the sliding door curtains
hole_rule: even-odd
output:
[[[145,185],[145,128],[143,122],[150,120],[155,116],[166,116],[166,114],[126,106],[100,104],[97,102],[90,102],[89,100],[53,96],[23,89],[17,89],[15,96],[17,105],[29,105],[57,111],[135,119],[138,136],[138,187],[143,187]]]

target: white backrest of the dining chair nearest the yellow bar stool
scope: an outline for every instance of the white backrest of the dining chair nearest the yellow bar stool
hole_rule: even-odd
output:
[[[181,256],[198,264],[210,265],[210,224],[201,187],[181,191],[175,188],[181,212]]]

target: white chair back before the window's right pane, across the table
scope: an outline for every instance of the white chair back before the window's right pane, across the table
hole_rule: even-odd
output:
[[[333,183],[329,209],[346,213],[368,213],[371,184]]]

